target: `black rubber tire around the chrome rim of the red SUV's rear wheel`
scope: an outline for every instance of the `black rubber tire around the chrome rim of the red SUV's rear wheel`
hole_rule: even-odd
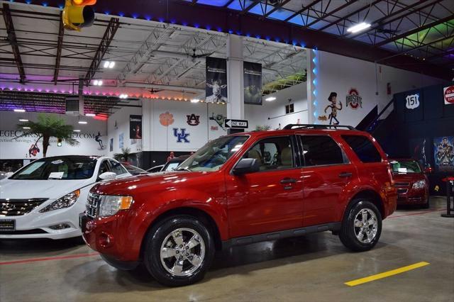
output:
[[[377,220],[376,230],[377,232],[375,234],[375,237],[373,237],[373,239],[370,240],[370,242],[361,242],[356,236],[356,232],[358,231],[359,233],[359,230],[362,227],[355,228],[355,218],[358,215],[362,215],[360,214],[360,212],[366,209],[375,213],[375,217]],[[369,228],[368,230],[371,229]],[[378,210],[377,206],[375,206],[375,204],[372,203],[371,201],[367,201],[364,199],[357,199],[353,201],[351,206],[349,206],[349,208],[347,208],[347,211],[345,212],[345,216],[343,218],[341,226],[341,232],[339,233],[339,238],[341,239],[343,245],[345,245],[345,247],[354,252],[365,252],[367,250],[372,249],[372,247],[375,247],[378,240],[380,239],[381,233],[382,233],[382,215]],[[364,236],[367,237],[365,233],[360,234],[362,234],[362,237]]]

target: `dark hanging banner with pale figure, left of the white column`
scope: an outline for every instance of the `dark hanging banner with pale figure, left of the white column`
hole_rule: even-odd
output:
[[[227,102],[227,61],[217,57],[206,57],[205,101]]]

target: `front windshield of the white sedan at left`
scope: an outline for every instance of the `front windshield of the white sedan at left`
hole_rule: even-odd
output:
[[[96,157],[52,157],[35,160],[10,179],[89,179],[96,167]]]

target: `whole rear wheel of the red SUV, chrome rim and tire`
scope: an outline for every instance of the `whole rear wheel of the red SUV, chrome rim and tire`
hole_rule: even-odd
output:
[[[382,233],[382,215],[371,201],[358,199],[347,208],[339,238],[345,247],[355,252],[372,249]]]

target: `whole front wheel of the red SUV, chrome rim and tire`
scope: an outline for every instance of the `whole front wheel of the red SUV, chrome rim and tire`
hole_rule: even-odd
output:
[[[184,286],[203,279],[215,252],[209,228],[185,215],[172,216],[155,225],[144,245],[145,267],[165,286]]]

